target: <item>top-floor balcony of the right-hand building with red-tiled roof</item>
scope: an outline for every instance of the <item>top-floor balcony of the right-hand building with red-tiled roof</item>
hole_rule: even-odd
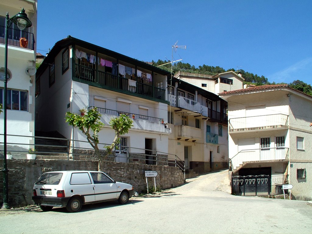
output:
[[[260,115],[229,119],[231,132],[285,129],[288,126],[288,115]]]

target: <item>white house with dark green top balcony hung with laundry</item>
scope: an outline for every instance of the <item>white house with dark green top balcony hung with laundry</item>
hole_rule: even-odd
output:
[[[133,116],[134,126],[122,136],[122,146],[132,147],[130,154],[167,154],[171,130],[162,119],[167,122],[163,84],[168,75],[145,62],[68,36],[56,42],[37,71],[36,131],[57,131],[66,139],[86,141],[79,129],[65,122],[65,114],[96,106],[105,124],[100,143],[112,143],[115,131],[109,121],[126,113]],[[75,142],[75,147],[90,145]],[[155,164],[150,159],[146,163]]]

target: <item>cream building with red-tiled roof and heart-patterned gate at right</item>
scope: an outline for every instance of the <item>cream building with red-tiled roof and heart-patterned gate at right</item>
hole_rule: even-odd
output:
[[[287,85],[228,91],[220,97],[228,102],[230,170],[240,176],[233,177],[234,192],[242,194],[245,185],[267,185],[250,195],[274,195],[289,183],[297,200],[311,200],[312,97]]]

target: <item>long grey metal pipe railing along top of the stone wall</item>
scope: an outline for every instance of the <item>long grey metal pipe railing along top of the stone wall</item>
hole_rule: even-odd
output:
[[[3,134],[0,134],[0,136]],[[66,156],[66,159],[73,159],[80,156],[94,156],[94,149],[90,147],[76,147],[77,143],[87,143],[87,141],[71,140],[65,138],[55,137],[40,137],[40,136],[25,136],[25,135],[12,135],[7,134],[7,151],[12,154],[13,159],[25,159],[26,154],[29,154],[28,149],[35,149],[35,152],[39,158],[47,158],[47,156]],[[12,139],[15,139],[13,142]],[[35,143],[25,143],[34,141]],[[0,146],[3,142],[0,142]],[[110,144],[99,143],[99,149]],[[150,152],[150,154],[137,153],[138,151]],[[3,150],[0,149],[3,154]],[[83,152],[83,153],[80,153]],[[88,152],[88,153],[86,153]],[[167,155],[167,156],[166,156]],[[185,165],[184,160],[181,160],[177,155],[160,152],[150,149],[141,149],[129,146],[118,145],[115,149],[115,155],[109,155],[109,161],[115,162],[133,162],[133,163],[144,163],[153,165],[170,165],[178,167],[184,173],[185,178]],[[49,158],[51,159],[51,158]],[[183,163],[182,163],[183,162]]]

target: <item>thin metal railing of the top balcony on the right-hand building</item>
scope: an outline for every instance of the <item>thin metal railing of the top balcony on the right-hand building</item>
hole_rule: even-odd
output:
[[[234,129],[259,128],[270,126],[287,126],[288,115],[259,115],[229,119],[230,131]]]

